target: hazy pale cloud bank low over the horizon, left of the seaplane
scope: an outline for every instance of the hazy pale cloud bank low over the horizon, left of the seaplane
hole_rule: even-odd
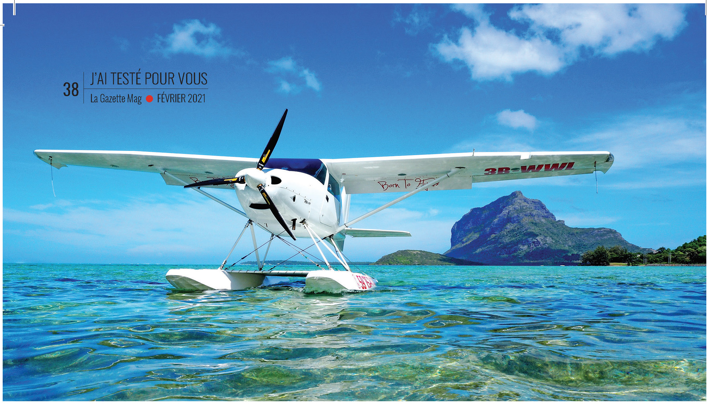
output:
[[[235,196],[214,194],[226,201],[236,200]],[[72,255],[87,256],[83,261],[102,261],[107,256],[143,261],[170,256],[218,257],[226,255],[245,222],[217,203],[184,193],[125,203],[65,201],[48,206],[4,208],[4,231],[21,236],[16,242],[6,237],[6,244],[36,246],[33,250],[39,257],[51,257],[46,252],[61,252],[64,247]],[[38,243],[42,241],[49,244]],[[106,251],[106,247],[112,249]]]

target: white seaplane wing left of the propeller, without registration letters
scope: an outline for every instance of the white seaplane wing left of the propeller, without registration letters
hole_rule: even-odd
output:
[[[52,167],[60,169],[67,165],[126,171],[143,171],[160,174],[168,185],[182,186],[162,171],[177,176],[189,184],[234,176],[244,168],[256,167],[258,159],[238,157],[216,157],[212,155],[169,154],[165,152],[140,151],[77,151],[77,150],[36,150],[35,155]],[[233,185],[205,186],[233,188]]]

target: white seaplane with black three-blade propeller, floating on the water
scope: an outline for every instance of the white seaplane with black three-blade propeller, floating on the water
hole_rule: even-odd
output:
[[[167,185],[201,193],[247,219],[229,254],[217,269],[170,269],[165,277],[186,290],[242,290],[266,286],[278,277],[305,277],[306,293],[371,291],[376,279],[352,271],[345,255],[345,237],[405,237],[406,231],[352,227],[357,222],[422,191],[469,189],[473,184],[605,173],[613,165],[610,152],[462,152],[397,157],[302,159],[273,157],[286,114],[283,113],[258,159],[138,151],[35,150],[35,155],[60,169],[69,165],[160,174]],[[242,210],[203,191],[230,188]],[[403,195],[379,208],[349,219],[350,198],[359,193]],[[270,234],[257,243],[255,227]],[[250,230],[254,269],[226,266],[240,239]],[[320,262],[290,239],[310,239]],[[313,269],[293,270],[265,264],[271,242],[279,239],[313,262]],[[263,260],[259,249],[265,249]],[[323,251],[324,249],[324,251]],[[328,261],[328,252],[334,261]],[[250,253],[250,254],[251,254]],[[308,253],[309,254],[309,253]],[[245,256],[246,257],[246,256]],[[244,258],[245,258],[244,257]],[[333,264],[339,263],[336,267]],[[237,266],[244,268],[245,266]],[[268,269],[267,269],[268,268]]]

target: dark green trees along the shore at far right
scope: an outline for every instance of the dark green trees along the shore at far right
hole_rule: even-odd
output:
[[[652,254],[629,252],[626,248],[616,245],[605,248],[603,245],[581,254],[581,265],[609,265],[611,262],[620,262],[628,265],[640,264],[706,264],[707,262],[707,236],[697,237],[690,242],[685,242],[676,249],[659,247]]]

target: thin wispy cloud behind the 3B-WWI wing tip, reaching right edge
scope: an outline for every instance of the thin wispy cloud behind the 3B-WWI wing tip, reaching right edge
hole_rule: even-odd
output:
[[[501,134],[491,127],[491,132],[481,131],[445,152],[471,152],[473,148],[478,152],[609,151],[615,161],[607,174],[598,174],[603,188],[703,186],[707,147],[705,97],[703,92],[683,94],[661,106],[586,116],[580,126],[548,123],[533,136],[521,132]],[[589,179],[593,181],[594,176],[482,182],[474,187],[579,185]]]

